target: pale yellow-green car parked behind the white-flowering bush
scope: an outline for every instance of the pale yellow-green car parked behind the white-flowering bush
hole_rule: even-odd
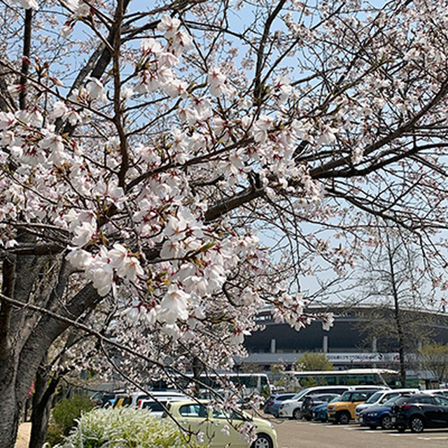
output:
[[[251,448],[278,448],[276,431],[272,424],[265,419],[252,417],[246,412],[226,413],[221,409],[211,408],[209,402],[200,400],[186,400],[169,402],[168,409],[174,419],[186,430],[193,433],[202,433],[204,442],[210,447],[224,448],[231,447],[248,448],[239,430],[247,421],[255,424],[257,439]],[[165,412],[162,418],[167,418]]]

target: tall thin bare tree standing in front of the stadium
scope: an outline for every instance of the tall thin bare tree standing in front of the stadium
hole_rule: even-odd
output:
[[[423,260],[409,249],[407,235],[379,228],[378,241],[381,244],[364,257],[353,304],[368,302],[369,307],[358,311],[360,329],[377,339],[379,351],[398,351],[405,386],[407,355],[416,353],[433,332],[433,299],[426,293],[430,288]]]

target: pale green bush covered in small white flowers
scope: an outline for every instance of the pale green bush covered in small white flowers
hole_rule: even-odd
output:
[[[83,414],[65,442],[55,448],[170,448],[195,447],[169,419],[159,419],[148,409],[97,408]]]

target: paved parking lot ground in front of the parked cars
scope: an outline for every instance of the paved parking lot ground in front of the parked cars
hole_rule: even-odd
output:
[[[371,430],[356,423],[332,425],[302,420],[274,419],[279,448],[428,448],[447,447],[448,430],[409,431]]]

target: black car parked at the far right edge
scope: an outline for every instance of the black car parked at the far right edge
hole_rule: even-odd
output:
[[[407,428],[413,433],[424,428],[448,428],[448,398],[427,393],[398,398],[391,407],[391,420],[400,433]]]

